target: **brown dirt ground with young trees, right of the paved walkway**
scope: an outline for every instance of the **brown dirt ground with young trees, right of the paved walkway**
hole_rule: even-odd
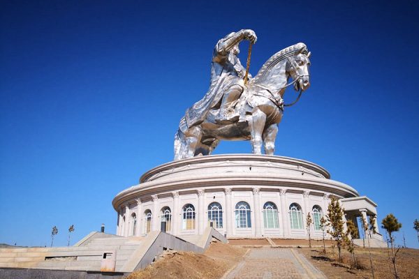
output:
[[[318,269],[323,271],[325,276],[330,279],[358,279],[372,278],[371,265],[369,264],[369,252],[367,248],[355,248],[355,257],[362,269],[350,269],[351,254],[343,250],[343,263],[337,262],[337,248],[335,252],[327,248],[323,254],[321,248],[298,249],[299,252],[309,259]],[[374,266],[375,278],[394,278],[392,264],[388,259],[387,248],[372,248],[372,261]],[[400,249],[396,258],[397,271],[400,278],[419,278],[419,250]],[[390,270],[391,269],[391,270]]]

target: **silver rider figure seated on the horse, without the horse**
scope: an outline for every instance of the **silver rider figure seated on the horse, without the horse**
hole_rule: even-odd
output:
[[[256,33],[243,29],[228,34],[216,43],[212,54],[210,89],[202,100],[186,110],[186,124],[189,128],[202,123],[210,110],[219,109],[215,116],[216,123],[228,124],[244,120],[233,107],[244,91],[244,75],[246,69],[237,56],[242,40],[256,43]],[[240,117],[240,119],[239,119]]]

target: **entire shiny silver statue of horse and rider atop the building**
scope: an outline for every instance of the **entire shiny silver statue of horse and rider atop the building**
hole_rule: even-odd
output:
[[[247,68],[237,56],[242,40],[250,43]],[[244,29],[216,43],[210,89],[180,120],[175,160],[210,155],[220,140],[250,140],[253,153],[261,154],[264,146],[265,154],[273,155],[278,125],[287,106],[283,99],[286,88],[293,86],[300,91],[298,100],[310,86],[310,52],[304,43],[286,47],[251,77],[250,54],[256,40],[253,30]]]

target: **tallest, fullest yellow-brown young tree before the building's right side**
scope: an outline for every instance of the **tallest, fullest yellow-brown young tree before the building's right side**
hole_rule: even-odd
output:
[[[332,239],[335,240],[339,255],[339,262],[342,260],[341,248],[344,247],[346,239],[343,217],[344,210],[341,208],[339,200],[332,197],[328,206],[328,214],[326,215],[326,218],[328,218],[328,226],[330,227],[330,229],[328,229],[328,234],[330,234]]]

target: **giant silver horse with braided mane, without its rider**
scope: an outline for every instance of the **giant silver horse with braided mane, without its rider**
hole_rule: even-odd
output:
[[[210,155],[220,140],[250,140],[253,153],[273,155],[278,125],[284,114],[284,93],[309,86],[310,52],[304,43],[286,47],[270,57],[258,74],[244,85],[240,98],[231,107],[244,115],[233,123],[217,121],[219,107],[210,110],[203,122],[188,127],[185,116],[175,135],[175,160]],[[289,79],[292,79],[288,83]],[[298,96],[299,98],[300,96]]]

